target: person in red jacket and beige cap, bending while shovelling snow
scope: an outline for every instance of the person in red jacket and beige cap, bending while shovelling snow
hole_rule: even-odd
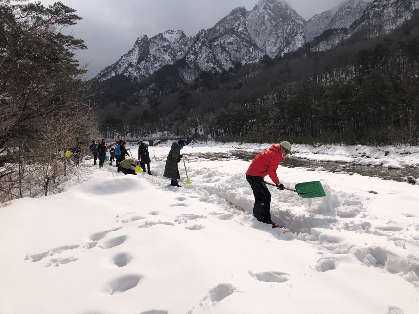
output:
[[[277,189],[283,190],[284,184],[279,182],[277,168],[280,161],[291,153],[290,142],[281,142],[279,145],[272,145],[266,151],[261,152],[253,159],[246,171],[246,180],[249,182],[253,195],[255,196],[255,205],[253,206],[253,216],[257,220],[272,225],[272,228],[278,227],[271,219],[271,193],[264,182],[264,176],[269,175]]]

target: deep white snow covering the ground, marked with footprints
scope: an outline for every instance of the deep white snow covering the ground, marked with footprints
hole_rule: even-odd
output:
[[[284,234],[249,214],[249,162],[189,155],[233,148],[186,146],[181,188],[157,146],[152,176],[85,167],[65,193],[0,208],[0,313],[419,312],[419,185],[280,166],[327,194],[271,187]]]

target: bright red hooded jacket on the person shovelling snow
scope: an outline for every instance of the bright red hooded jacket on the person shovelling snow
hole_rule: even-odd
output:
[[[267,176],[274,182],[274,184],[279,183],[277,176],[277,169],[279,166],[279,161],[284,161],[284,157],[281,153],[281,146],[272,145],[267,151],[261,152],[255,159],[253,159],[249,168],[246,171],[246,174],[249,176]]]

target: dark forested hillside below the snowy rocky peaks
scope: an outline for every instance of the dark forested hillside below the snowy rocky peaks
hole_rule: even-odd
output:
[[[315,39],[316,41],[316,39]],[[181,64],[137,82],[90,82],[107,137],[160,132],[221,141],[416,145],[419,13],[391,33],[355,33],[327,52],[293,53],[183,82]]]

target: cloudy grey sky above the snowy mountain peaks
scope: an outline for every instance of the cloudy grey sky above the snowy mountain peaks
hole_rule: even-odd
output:
[[[44,5],[56,0],[41,0]],[[168,29],[183,29],[194,36],[210,28],[239,6],[251,10],[258,0],[62,0],[77,10],[83,20],[71,28],[88,49],[78,58],[88,64],[88,74],[96,75],[113,64],[134,45],[142,34],[152,37]],[[287,0],[308,20],[333,8],[343,0]]]

